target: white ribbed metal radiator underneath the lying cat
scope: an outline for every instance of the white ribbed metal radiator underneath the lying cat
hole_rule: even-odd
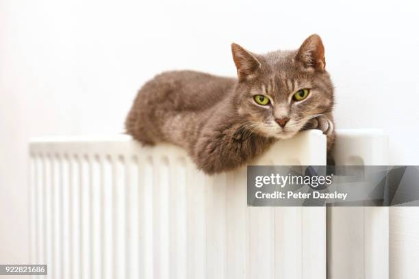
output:
[[[338,132],[336,163],[381,160],[377,146],[351,144],[370,135],[385,142],[377,131]],[[325,208],[247,207],[246,168],[206,176],[175,146],[118,135],[38,138],[29,147],[31,263],[48,264],[49,278],[325,279],[327,241],[348,245],[345,232],[327,237]],[[305,131],[251,164],[324,165],[325,154],[325,136]],[[344,278],[335,267],[331,278]]]

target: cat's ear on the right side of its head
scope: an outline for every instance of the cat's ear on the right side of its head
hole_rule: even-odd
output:
[[[325,47],[320,36],[313,34],[305,39],[297,51],[295,59],[297,62],[301,62],[305,68],[325,70]]]

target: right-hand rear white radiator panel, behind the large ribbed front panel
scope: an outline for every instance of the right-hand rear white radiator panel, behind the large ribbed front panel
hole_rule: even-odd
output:
[[[341,130],[338,165],[387,165],[388,137],[379,130]],[[389,208],[327,208],[327,278],[389,278]]]

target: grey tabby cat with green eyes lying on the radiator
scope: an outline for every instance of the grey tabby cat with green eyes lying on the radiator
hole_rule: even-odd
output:
[[[296,51],[258,55],[234,43],[231,51],[237,78],[180,70],[145,83],[125,120],[127,133],[144,145],[185,148],[207,174],[238,168],[305,129],[323,131],[329,152],[333,83],[320,36]]]

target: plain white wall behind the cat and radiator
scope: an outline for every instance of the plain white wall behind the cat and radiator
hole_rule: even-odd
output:
[[[158,72],[235,75],[230,44],[264,53],[322,36],[338,129],[390,135],[419,165],[417,1],[0,1],[0,263],[27,263],[27,141],[121,133]],[[407,248],[408,249],[408,248]]]

